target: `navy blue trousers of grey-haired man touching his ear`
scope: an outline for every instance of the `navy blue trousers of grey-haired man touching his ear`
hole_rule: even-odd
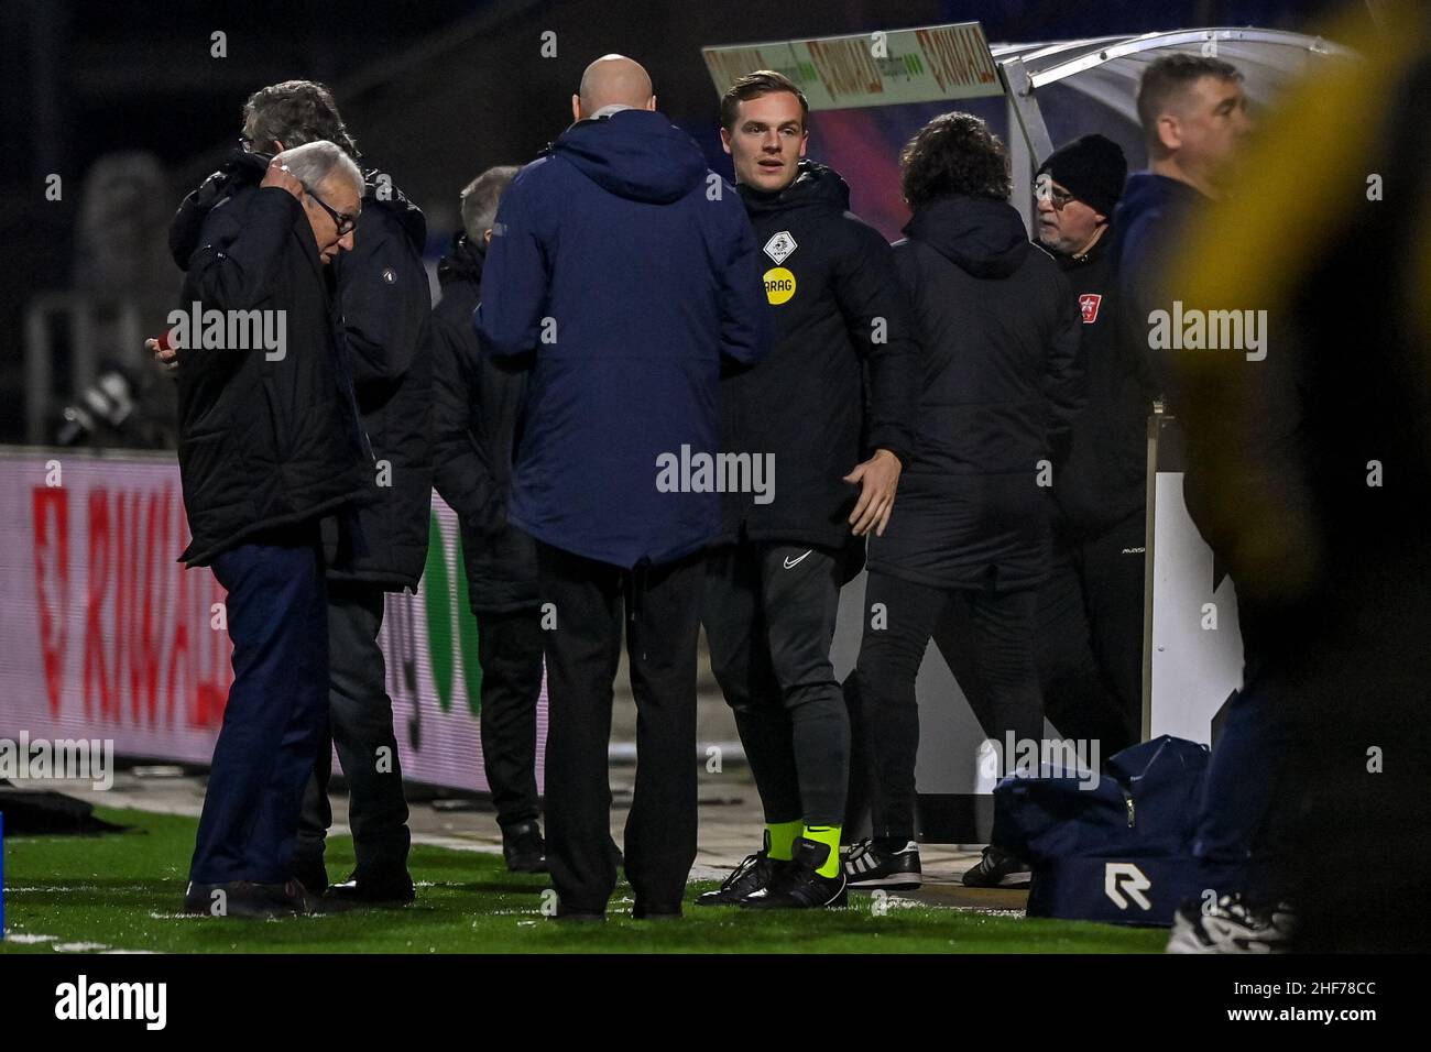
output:
[[[328,733],[328,588],[316,530],[213,561],[228,590],[233,686],[189,867],[195,883],[283,883],[303,787]]]

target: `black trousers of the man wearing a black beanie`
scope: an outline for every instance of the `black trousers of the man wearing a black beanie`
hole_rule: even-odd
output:
[[[1090,538],[1053,530],[1036,660],[1047,716],[1112,756],[1142,739],[1143,512]]]

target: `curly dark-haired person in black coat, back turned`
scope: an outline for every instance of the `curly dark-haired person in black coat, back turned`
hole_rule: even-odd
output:
[[[866,869],[890,873],[917,866],[914,677],[932,637],[985,734],[1000,746],[1043,737],[1033,628],[1049,571],[1046,487],[1082,404],[1078,309],[1007,203],[1003,143],[947,113],[900,160],[914,216],[894,255],[923,394],[899,514],[870,540],[856,667],[871,766]]]

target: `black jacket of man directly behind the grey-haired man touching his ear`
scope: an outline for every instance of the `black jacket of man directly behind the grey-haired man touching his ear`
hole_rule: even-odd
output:
[[[342,333],[363,431],[376,464],[369,500],[339,515],[331,580],[416,588],[432,511],[432,293],[422,265],[426,222],[369,173],[352,252],[333,260]]]

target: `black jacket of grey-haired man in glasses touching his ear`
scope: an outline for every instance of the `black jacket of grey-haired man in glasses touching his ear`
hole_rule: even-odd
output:
[[[183,309],[285,312],[280,359],[193,338],[179,355],[189,565],[318,520],[369,488],[332,283],[298,199],[259,187],[266,167],[266,157],[236,155],[185,199],[169,232],[186,271]]]

